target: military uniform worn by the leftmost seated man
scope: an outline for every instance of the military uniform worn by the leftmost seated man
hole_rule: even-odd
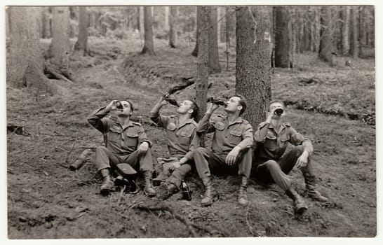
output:
[[[98,170],[114,167],[119,163],[128,163],[137,172],[152,172],[152,151],[149,148],[146,153],[139,154],[137,146],[149,141],[145,130],[140,123],[129,121],[128,125],[122,126],[114,117],[107,117],[104,108],[95,111],[88,117],[90,125],[102,132],[105,146],[99,146],[95,152],[95,163]]]

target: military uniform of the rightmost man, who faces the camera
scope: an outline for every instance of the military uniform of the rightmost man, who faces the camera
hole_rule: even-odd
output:
[[[289,123],[281,123],[278,130],[266,122],[260,123],[254,135],[257,144],[254,153],[252,174],[262,181],[275,181],[283,190],[291,186],[287,174],[293,169],[304,151],[313,152],[311,141],[304,138]],[[285,153],[288,144],[295,148]],[[285,153],[285,154],[284,154]],[[283,155],[284,154],[284,155]],[[310,159],[301,169],[304,176],[314,176]]]

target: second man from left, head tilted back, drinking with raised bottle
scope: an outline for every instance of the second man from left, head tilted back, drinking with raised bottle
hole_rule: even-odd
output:
[[[168,152],[170,158],[159,158],[162,172],[153,180],[155,186],[160,185],[159,198],[166,200],[180,190],[181,181],[191,171],[193,156],[191,149],[199,144],[196,137],[194,121],[199,108],[195,102],[184,100],[177,108],[177,116],[163,116],[159,114],[162,106],[168,104],[166,97],[161,97],[159,102],[150,112],[150,118],[160,127],[166,129]],[[176,103],[174,103],[176,104]],[[170,172],[171,175],[170,175]]]

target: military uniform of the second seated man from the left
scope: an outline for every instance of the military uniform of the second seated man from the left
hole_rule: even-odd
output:
[[[170,155],[169,158],[159,158],[159,164],[162,164],[163,171],[156,179],[166,180],[179,188],[182,179],[191,171],[193,165],[191,150],[199,144],[198,137],[196,137],[197,123],[190,118],[185,123],[180,124],[177,116],[163,116],[159,113],[151,113],[149,116],[159,127],[166,129]],[[170,175],[169,167],[171,162],[179,161],[183,157],[187,158],[188,161],[175,169]]]

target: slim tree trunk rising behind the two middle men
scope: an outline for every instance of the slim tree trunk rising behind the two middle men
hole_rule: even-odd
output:
[[[208,94],[208,6],[197,7],[197,20],[201,20],[201,32],[198,35],[199,53],[196,78],[196,103],[199,106],[199,119],[206,111],[206,97]]]

